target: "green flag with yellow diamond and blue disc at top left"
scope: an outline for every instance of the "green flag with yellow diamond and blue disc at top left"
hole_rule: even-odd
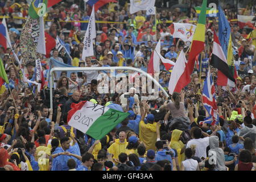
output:
[[[54,0],[49,0],[54,1]],[[34,0],[31,2],[30,7],[28,8],[28,15],[31,18],[36,19],[42,17],[46,14],[47,11],[47,0]]]

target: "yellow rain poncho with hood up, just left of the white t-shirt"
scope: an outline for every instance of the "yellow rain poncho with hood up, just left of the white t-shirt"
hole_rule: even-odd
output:
[[[170,143],[170,147],[174,148],[177,151],[179,166],[181,165],[181,162],[185,159],[184,152],[183,152],[183,154],[180,154],[181,149],[184,147],[183,142],[181,142],[181,140],[179,140],[182,132],[183,131],[181,131],[181,130],[172,131],[172,137],[171,137],[171,143]]]

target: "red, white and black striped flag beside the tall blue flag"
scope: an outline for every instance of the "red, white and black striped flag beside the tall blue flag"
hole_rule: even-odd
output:
[[[215,32],[213,35],[213,52],[210,64],[213,65],[214,68],[218,69],[217,85],[229,85],[232,87],[235,86],[234,76],[230,72],[228,61],[226,60],[226,57]]]

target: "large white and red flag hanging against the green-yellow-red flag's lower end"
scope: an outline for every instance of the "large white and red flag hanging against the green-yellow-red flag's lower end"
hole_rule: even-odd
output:
[[[185,57],[185,53],[183,50],[181,50],[179,56],[177,57],[177,61],[174,65],[174,68],[172,68],[172,73],[169,81],[168,90],[170,94],[173,94],[174,92],[180,92],[181,89],[185,86],[183,80],[185,77],[182,77],[185,71],[185,67],[187,60]],[[179,84],[178,84],[179,83]]]

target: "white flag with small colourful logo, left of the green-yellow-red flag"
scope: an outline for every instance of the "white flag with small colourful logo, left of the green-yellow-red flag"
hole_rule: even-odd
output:
[[[180,38],[184,42],[192,42],[196,26],[189,23],[173,23],[174,24],[174,38]]]

